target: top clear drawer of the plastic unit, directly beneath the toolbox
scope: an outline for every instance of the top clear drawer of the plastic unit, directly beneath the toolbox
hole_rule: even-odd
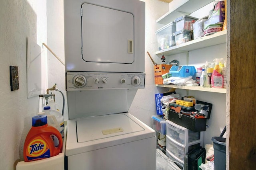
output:
[[[190,131],[185,127],[177,125],[171,121],[166,123],[166,135],[184,146],[185,144],[188,145],[188,143],[200,140],[200,132]]]

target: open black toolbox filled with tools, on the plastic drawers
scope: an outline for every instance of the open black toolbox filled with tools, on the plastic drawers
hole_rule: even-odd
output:
[[[196,101],[193,107],[184,107],[170,103],[168,120],[186,127],[191,131],[205,131],[206,120],[210,119],[212,104]]]

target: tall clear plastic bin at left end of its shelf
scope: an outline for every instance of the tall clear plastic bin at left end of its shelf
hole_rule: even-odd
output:
[[[156,31],[158,50],[168,49],[175,44],[173,33],[176,32],[176,23],[171,22]]]

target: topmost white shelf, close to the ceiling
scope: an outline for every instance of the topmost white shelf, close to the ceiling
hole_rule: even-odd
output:
[[[167,24],[184,15],[199,10],[214,0],[173,0],[169,4],[169,11],[156,20],[156,23]]]

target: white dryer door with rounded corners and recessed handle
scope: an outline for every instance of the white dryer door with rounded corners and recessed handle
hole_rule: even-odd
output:
[[[84,61],[134,62],[134,17],[131,13],[83,3],[81,21]]]

